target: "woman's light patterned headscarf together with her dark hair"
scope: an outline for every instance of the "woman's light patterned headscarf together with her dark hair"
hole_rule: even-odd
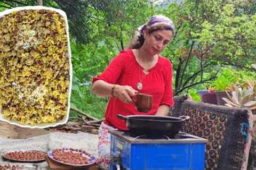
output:
[[[169,18],[163,15],[154,15],[147,23],[138,27],[133,40],[128,45],[128,49],[139,49],[143,45],[145,41],[143,33],[146,29],[149,34],[158,30],[170,30],[173,36],[175,34],[174,24]]]

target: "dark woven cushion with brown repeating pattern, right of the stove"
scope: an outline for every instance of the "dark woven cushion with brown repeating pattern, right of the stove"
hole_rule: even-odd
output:
[[[249,137],[247,110],[186,100],[181,115],[190,116],[181,131],[208,140],[205,168],[240,170]]]

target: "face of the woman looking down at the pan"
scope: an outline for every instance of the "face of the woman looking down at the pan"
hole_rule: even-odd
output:
[[[143,46],[151,55],[156,55],[162,52],[162,50],[169,44],[172,39],[172,31],[170,30],[157,30],[152,33],[144,34],[145,41]]]

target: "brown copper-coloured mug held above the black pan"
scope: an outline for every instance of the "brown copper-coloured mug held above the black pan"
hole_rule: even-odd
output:
[[[135,102],[135,107],[139,112],[148,112],[152,108],[153,96],[148,94],[137,94],[133,101]]]

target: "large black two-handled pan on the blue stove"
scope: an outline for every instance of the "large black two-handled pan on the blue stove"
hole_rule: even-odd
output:
[[[130,131],[150,134],[170,134],[175,135],[180,131],[185,120],[189,116],[169,117],[154,115],[117,115],[126,121],[126,126]]]

